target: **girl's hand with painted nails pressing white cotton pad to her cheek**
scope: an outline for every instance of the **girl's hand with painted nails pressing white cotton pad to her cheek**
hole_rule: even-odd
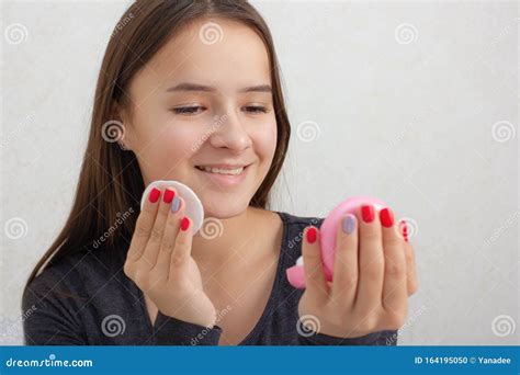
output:
[[[191,221],[180,200],[173,213],[173,188],[161,196],[152,189],[132,237],[124,272],[158,307],[170,317],[201,326],[215,323],[215,307],[203,292],[201,273],[191,257]],[[162,197],[162,198],[161,198]],[[176,200],[177,202],[177,200]],[[173,203],[176,203],[173,202]]]

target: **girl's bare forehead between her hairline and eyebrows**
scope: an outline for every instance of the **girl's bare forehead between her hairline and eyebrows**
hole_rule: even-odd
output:
[[[260,36],[242,23],[222,19],[185,25],[154,56],[149,67],[160,80],[222,87],[270,82],[269,56]]]

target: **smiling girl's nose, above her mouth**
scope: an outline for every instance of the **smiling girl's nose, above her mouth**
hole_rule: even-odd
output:
[[[235,111],[215,116],[213,127],[214,132],[210,137],[213,147],[227,148],[235,154],[240,154],[251,146],[251,138]]]

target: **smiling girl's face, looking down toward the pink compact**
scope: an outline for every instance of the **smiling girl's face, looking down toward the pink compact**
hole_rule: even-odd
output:
[[[251,29],[225,20],[184,27],[134,78],[129,98],[124,144],[145,184],[189,185],[207,216],[247,208],[276,145],[268,53]],[[203,170],[218,164],[227,171]]]

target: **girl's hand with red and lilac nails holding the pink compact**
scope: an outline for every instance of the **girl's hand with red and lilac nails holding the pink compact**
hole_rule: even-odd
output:
[[[332,282],[325,277],[319,230],[305,228],[306,289],[298,314],[318,319],[319,325],[313,322],[310,329],[319,326],[319,333],[357,338],[404,325],[408,296],[417,291],[414,250],[398,232],[389,208],[382,209],[380,217],[368,205],[351,215],[354,228],[350,235],[339,224]],[[305,318],[302,323],[305,326]]]

